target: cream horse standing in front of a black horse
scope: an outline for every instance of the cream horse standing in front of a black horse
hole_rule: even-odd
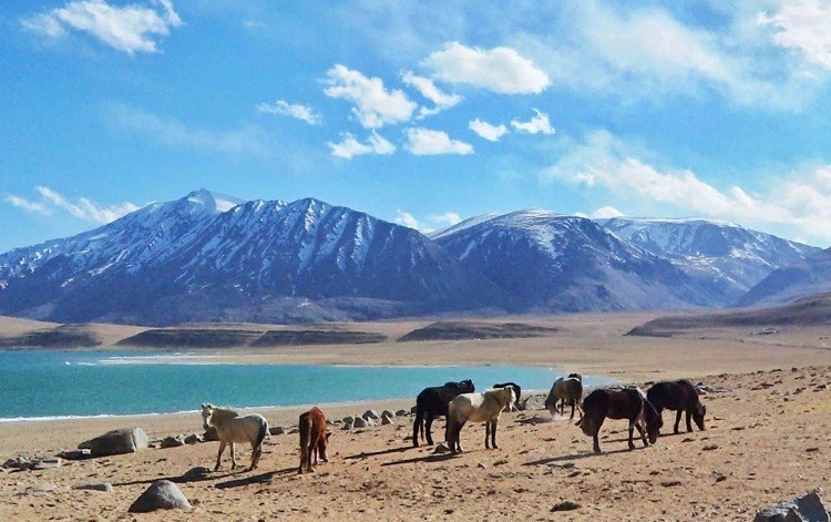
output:
[[[509,408],[516,398],[512,387],[486,390],[483,393],[462,393],[450,401],[448,407],[448,426],[444,438],[450,451],[462,450],[461,432],[465,422],[485,422],[485,448],[496,446],[496,423],[502,410]],[[491,438],[489,446],[488,437]]]

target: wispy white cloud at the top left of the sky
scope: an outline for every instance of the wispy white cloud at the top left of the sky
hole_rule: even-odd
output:
[[[123,7],[105,0],[82,0],[23,19],[21,23],[52,39],[65,35],[69,30],[85,32],[113,49],[134,54],[157,52],[156,39],[182,25],[182,19],[170,0]]]

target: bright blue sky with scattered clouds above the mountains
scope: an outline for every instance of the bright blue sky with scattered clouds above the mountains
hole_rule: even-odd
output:
[[[824,0],[4,0],[0,252],[204,187],[831,245]]]

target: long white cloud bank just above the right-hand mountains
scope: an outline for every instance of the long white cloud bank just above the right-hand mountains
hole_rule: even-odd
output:
[[[706,217],[776,226],[790,237],[831,240],[831,165],[781,177],[759,194],[740,186],[718,188],[689,170],[657,168],[630,150],[608,132],[595,132],[544,171],[541,180],[607,191],[629,206],[658,203]]]

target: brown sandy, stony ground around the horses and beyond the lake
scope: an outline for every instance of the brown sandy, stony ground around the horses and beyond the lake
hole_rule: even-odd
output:
[[[608,420],[594,456],[592,441],[545,411],[503,414],[499,450],[483,447],[484,427],[462,431],[465,452],[412,449],[412,417],[355,432],[335,427],[330,462],[297,475],[296,434],[267,439],[260,468],[224,468],[199,480],[183,475],[213,468],[217,442],[148,449],[129,456],[64,462],[54,470],[0,470],[0,520],[751,520],[755,511],[821,487],[831,472],[831,350],[819,330],[758,338],[718,331],[678,339],[620,337],[642,318],[572,317],[552,338],[289,348],[227,354],[236,361],[341,364],[531,364],[630,382],[691,377],[710,390],[707,430],[671,434],[629,451],[626,422]],[[542,320],[542,319],[541,319]],[[389,327],[392,328],[392,327]],[[322,406],[330,419],[371,407],[412,401]],[[290,428],[301,409],[260,410]],[[684,422],[681,422],[684,424]],[[152,438],[201,431],[198,413],[0,424],[0,461],[17,454],[55,454],[106,430],[141,426]],[[433,432],[443,438],[443,422]],[[247,448],[237,459],[245,462]],[[127,506],[150,483],[177,481],[189,513],[132,515]],[[113,493],[78,491],[111,482]],[[41,492],[38,492],[41,490]],[[827,497],[830,493],[825,494]],[[578,508],[553,512],[562,501]]]

